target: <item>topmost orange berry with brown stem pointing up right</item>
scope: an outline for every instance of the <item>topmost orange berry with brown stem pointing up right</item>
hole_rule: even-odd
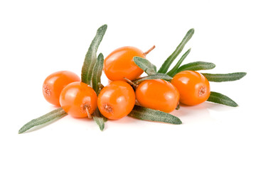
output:
[[[133,57],[145,58],[154,47],[147,52],[142,52],[136,47],[120,47],[108,55],[104,61],[104,72],[111,81],[121,80],[124,77],[130,80],[137,79],[143,70],[135,64]]]

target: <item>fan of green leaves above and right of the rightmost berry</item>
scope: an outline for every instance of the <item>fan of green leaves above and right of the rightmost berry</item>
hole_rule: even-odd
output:
[[[181,40],[181,43],[176,47],[176,50],[167,57],[167,59],[164,61],[164,63],[161,65],[160,69],[156,72],[156,66],[149,62],[149,60],[146,60],[141,57],[134,57],[134,62],[139,66],[141,69],[144,70],[146,74],[149,76],[147,77],[142,77],[139,79],[134,80],[135,84],[139,84],[141,81],[144,81],[146,79],[165,79],[165,80],[171,80],[172,77],[174,77],[178,72],[182,72],[185,70],[193,70],[193,71],[198,71],[198,70],[207,70],[207,69],[214,69],[215,64],[212,62],[190,62],[187,64],[182,64],[182,62],[186,59],[188,54],[191,52],[191,48],[188,49],[176,62],[174,67],[169,70],[169,67],[171,64],[176,60],[176,57],[182,52],[183,48],[185,47],[186,43],[188,40],[190,40],[193,36],[194,29],[191,28],[188,30],[188,33],[186,33],[185,37],[183,40]],[[166,74],[169,77],[164,76]],[[214,82],[223,82],[223,81],[235,81],[238,79],[242,79],[242,77],[245,77],[246,73],[245,72],[234,72],[234,73],[228,73],[228,74],[210,74],[210,73],[202,73],[208,81],[214,81]],[[225,96],[223,94],[220,94],[218,92],[211,91],[210,97],[208,98],[208,101],[213,102],[213,103],[219,103],[223,104],[226,106],[232,106],[236,107],[238,106],[235,101],[233,101],[231,98],[228,96]]]

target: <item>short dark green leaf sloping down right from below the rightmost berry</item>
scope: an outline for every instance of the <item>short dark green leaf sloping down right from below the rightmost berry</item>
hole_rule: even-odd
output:
[[[237,107],[238,104],[235,103],[235,101],[233,101],[231,98],[229,98],[228,96],[225,96],[223,94],[214,92],[214,91],[210,91],[210,97],[208,98],[207,101],[213,102],[213,103],[219,103],[219,104],[223,104],[226,106],[232,106],[232,107]]]

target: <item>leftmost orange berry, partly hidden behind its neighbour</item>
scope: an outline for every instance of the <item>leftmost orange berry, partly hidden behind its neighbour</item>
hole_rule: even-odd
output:
[[[60,106],[60,92],[65,86],[75,81],[80,81],[80,77],[73,72],[54,72],[43,82],[43,96],[49,103]]]

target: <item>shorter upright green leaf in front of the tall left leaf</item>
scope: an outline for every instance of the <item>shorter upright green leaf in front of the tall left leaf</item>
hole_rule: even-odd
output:
[[[95,67],[92,70],[92,89],[95,90],[96,94],[99,95],[100,92],[100,77],[102,75],[104,57],[102,53],[97,57],[97,62],[95,63]]]

